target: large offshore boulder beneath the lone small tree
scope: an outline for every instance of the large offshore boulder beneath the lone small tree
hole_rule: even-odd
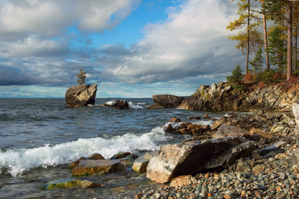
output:
[[[79,84],[65,92],[65,102],[69,108],[87,107],[89,104],[94,104],[96,94],[97,84]]]

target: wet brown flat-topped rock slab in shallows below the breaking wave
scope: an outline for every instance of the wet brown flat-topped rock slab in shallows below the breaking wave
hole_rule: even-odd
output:
[[[72,175],[89,175],[113,171],[125,171],[126,163],[118,160],[81,160],[73,169]]]

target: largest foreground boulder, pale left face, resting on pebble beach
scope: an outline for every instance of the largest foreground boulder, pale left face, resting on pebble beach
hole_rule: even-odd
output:
[[[249,157],[254,148],[254,142],[242,136],[167,144],[149,161],[147,178],[166,183],[203,169],[227,168],[237,159]]]

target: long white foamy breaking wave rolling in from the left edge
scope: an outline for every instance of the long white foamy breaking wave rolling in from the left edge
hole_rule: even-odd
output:
[[[106,159],[120,152],[135,152],[137,150],[158,150],[157,141],[165,141],[166,136],[161,127],[152,129],[143,135],[125,134],[110,139],[89,138],[57,144],[55,146],[37,147],[34,149],[8,149],[0,150],[0,168],[6,168],[13,176],[21,175],[24,171],[38,166],[56,166],[70,163],[80,157],[86,157],[95,152]],[[3,171],[2,171],[3,172]],[[1,173],[1,170],[0,170]]]

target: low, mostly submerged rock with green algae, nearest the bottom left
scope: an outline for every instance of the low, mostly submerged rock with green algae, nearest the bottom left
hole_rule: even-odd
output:
[[[66,188],[87,188],[87,187],[96,187],[96,186],[105,186],[105,185],[87,181],[87,180],[82,181],[80,179],[73,179],[73,178],[60,178],[46,183],[46,190],[66,189]]]

